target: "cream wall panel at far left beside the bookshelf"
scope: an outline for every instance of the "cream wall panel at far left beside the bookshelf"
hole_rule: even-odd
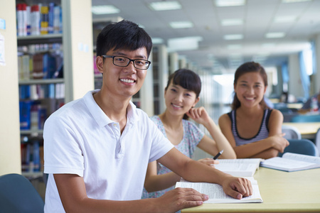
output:
[[[0,29],[6,62],[0,65],[0,175],[4,175],[21,173],[16,1],[1,2],[0,18],[6,21],[6,29]]]

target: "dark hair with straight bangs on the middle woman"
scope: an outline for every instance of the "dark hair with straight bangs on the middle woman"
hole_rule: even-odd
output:
[[[166,89],[168,89],[170,83],[179,85],[183,89],[188,89],[196,93],[196,98],[199,97],[201,92],[201,80],[196,72],[188,69],[179,69],[176,70],[173,74],[169,76],[168,82],[166,84]],[[188,116],[184,114],[183,119],[188,119]]]

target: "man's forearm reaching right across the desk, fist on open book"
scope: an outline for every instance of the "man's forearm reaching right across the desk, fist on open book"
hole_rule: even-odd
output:
[[[241,199],[252,195],[252,185],[246,178],[235,178],[208,165],[191,160],[176,148],[166,153],[159,162],[191,182],[213,182],[223,186],[225,194]]]

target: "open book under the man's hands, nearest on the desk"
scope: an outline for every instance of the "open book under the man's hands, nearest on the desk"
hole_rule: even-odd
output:
[[[241,200],[235,199],[226,195],[221,185],[209,182],[188,182],[186,180],[176,182],[176,187],[193,188],[209,196],[209,200],[204,203],[237,203],[237,202],[263,202],[260,195],[257,180],[252,177],[246,177],[251,181],[253,193],[248,197],[243,197]]]

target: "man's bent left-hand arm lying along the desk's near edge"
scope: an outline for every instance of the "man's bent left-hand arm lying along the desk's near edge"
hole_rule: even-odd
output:
[[[181,188],[171,190],[158,198],[130,201],[95,200],[87,197],[82,177],[70,174],[53,176],[65,212],[176,212],[179,209],[199,206],[208,200],[208,196],[196,190]]]

